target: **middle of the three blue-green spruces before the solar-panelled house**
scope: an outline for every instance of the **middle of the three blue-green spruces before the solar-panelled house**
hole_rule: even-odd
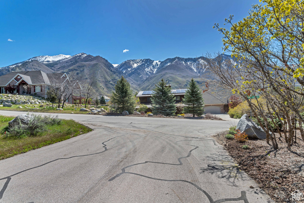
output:
[[[164,79],[158,82],[153,89],[151,109],[153,114],[172,116],[176,112],[175,96],[171,93],[171,87],[166,86]]]

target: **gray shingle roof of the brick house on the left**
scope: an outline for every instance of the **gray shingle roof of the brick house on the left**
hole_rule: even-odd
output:
[[[0,76],[0,86],[5,86],[11,81],[17,74],[19,74],[29,85],[35,84],[50,84],[51,81],[57,80],[58,82],[64,82],[66,77],[61,78],[64,73],[49,73],[46,74],[43,71],[22,71],[22,72],[10,72],[6,75]]]

